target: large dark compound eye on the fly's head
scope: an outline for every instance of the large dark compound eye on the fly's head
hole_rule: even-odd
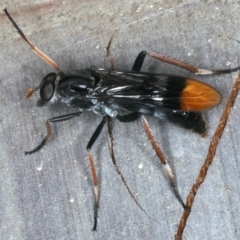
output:
[[[52,98],[55,91],[56,77],[56,73],[49,73],[42,80],[42,84],[40,87],[40,98],[43,102],[48,102]]]

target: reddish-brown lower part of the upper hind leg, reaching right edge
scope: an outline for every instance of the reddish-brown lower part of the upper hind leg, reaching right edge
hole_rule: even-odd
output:
[[[198,74],[198,75],[224,74],[224,73],[231,73],[231,72],[236,72],[236,71],[240,70],[240,66],[236,67],[236,68],[223,69],[223,70],[201,69],[201,68],[195,67],[193,65],[181,62],[179,60],[176,60],[176,59],[173,59],[173,58],[170,58],[170,57],[166,57],[166,56],[164,56],[162,54],[155,53],[155,52],[152,52],[152,51],[149,51],[149,52],[142,51],[141,53],[148,54],[149,56],[151,56],[151,57],[153,57],[153,58],[155,58],[157,60],[160,60],[160,61],[172,64],[172,65],[175,65],[177,67],[183,68],[183,69],[185,69],[185,70],[187,70],[189,72],[193,72],[193,73]]]

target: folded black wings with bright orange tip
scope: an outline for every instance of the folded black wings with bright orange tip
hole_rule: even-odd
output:
[[[202,111],[221,102],[216,89],[190,78],[106,69],[99,69],[98,74],[102,89],[96,91],[96,98],[106,104],[126,105],[130,111],[143,107]]]

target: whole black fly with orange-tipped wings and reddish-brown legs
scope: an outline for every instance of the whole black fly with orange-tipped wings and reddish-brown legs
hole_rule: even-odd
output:
[[[7,9],[4,9],[4,12],[31,50],[57,71],[47,74],[37,87],[27,89],[26,98],[31,97],[35,91],[39,91],[38,107],[43,107],[50,103],[51,100],[58,99],[69,107],[77,109],[76,112],[47,119],[45,138],[36,148],[26,151],[25,154],[35,153],[47,143],[52,135],[50,123],[79,117],[84,110],[90,110],[102,116],[102,121],[87,144],[87,155],[95,195],[93,230],[97,229],[99,184],[91,148],[109,118],[115,118],[121,122],[132,122],[141,119],[148,139],[166,170],[176,198],[184,209],[187,209],[176,189],[171,168],[159,148],[144,115],[168,120],[204,136],[206,134],[206,123],[201,111],[220,104],[221,94],[210,85],[195,79],[165,73],[140,72],[142,65],[148,55],[199,75],[230,73],[239,70],[240,67],[226,70],[206,70],[165,57],[156,52],[141,51],[131,70],[90,67],[76,70],[71,74],[65,74],[51,58],[26,38]]]

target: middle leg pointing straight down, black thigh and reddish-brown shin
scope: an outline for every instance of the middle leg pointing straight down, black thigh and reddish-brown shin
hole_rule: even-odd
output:
[[[90,167],[91,167],[92,179],[93,179],[93,185],[94,185],[94,195],[95,195],[93,231],[97,230],[97,217],[98,217],[98,206],[99,206],[98,205],[98,203],[99,203],[99,187],[98,187],[97,172],[96,172],[96,168],[94,166],[93,157],[92,157],[90,150],[91,150],[93,144],[95,143],[95,141],[97,140],[97,138],[99,137],[107,120],[108,120],[107,116],[103,117],[102,121],[98,125],[97,129],[93,133],[93,135],[87,145],[88,160],[89,160]]]

